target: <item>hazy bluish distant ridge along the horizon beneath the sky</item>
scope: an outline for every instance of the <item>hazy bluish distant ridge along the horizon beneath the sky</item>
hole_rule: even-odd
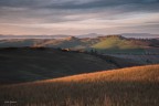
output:
[[[107,35],[123,35],[125,38],[136,38],[136,39],[159,39],[159,34],[150,34],[150,33],[120,33],[120,34],[98,34],[98,33],[87,33],[81,35],[68,35],[68,34],[54,34],[54,35],[3,35],[0,34],[0,40],[7,39],[65,39],[70,36],[75,36],[78,39],[84,38],[98,38],[98,36],[107,36]]]

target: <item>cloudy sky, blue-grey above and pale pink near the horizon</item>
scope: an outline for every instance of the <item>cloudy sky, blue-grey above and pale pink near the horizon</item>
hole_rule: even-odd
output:
[[[0,34],[159,34],[159,0],[0,0]]]

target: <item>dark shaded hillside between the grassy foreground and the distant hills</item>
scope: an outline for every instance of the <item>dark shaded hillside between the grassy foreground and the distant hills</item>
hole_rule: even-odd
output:
[[[0,84],[140,65],[129,60],[49,47],[0,49]]]

